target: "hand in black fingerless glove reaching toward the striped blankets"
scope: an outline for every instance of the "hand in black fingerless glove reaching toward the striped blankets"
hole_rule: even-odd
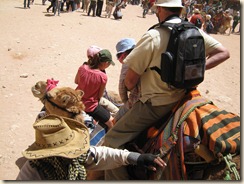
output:
[[[157,155],[151,153],[141,154],[137,159],[137,165],[145,166],[152,171],[156,171],[156,165],[164,168],[167,164]]]

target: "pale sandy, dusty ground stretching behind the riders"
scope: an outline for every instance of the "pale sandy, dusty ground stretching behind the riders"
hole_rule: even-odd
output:
[[[78,67],[86,61],[86,49],[109,49],[116,61],[115,44],[121,38],[137,41],[153,24],[155,15],[142,18],[140,6],[128,5],[123,19],[88,17],[81,10],[54,17],[35,0],[23,9],[23,0],[0,1],[0,179],[14,180],[21,165],[21,151],[34,140],[32,124],[42,107],[31,86],[53,77],[59,86],[75,87]],[[105,8],[105,6],[104,6]],[[104,13],[104,12],[103,12]],[[238,28],[237,28],[238,29]],[[203,96],[221,108],[240,115],[240,35],[213,35],[231,53],[222,65],[206,72],[199,86]],[[121,65],[107,69],[107,89],[117,91]]]

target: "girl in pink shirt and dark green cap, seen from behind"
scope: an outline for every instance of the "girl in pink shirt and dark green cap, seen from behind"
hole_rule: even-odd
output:
[[[80,66],[75,83],[76,89],[84,91],[82,101],[85,104],[85,112],[97,120],[100,124],[105,124],[108,128],[113,126],[113,117],[110,112],[99,105],[99,100],[103,96],[107,84],[107,75],[103,71],[114,65],[112,55],[107,49],[100,50],[90,61],[89,65]]]

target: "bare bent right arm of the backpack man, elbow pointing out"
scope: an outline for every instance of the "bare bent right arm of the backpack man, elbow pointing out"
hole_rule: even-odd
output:
[[[229,51],[224,46],[219,46],[209,53],[206,60],[206,70],[216,67],[220,63],[227,60],[229,57]]]

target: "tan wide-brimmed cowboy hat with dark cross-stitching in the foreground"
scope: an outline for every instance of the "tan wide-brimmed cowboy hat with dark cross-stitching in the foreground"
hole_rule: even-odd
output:
[[[48,115],[37,120],[33,127],[36,140],[22,152],[27,159],[76,158],[90,148],[89,131],[76,120]]]

